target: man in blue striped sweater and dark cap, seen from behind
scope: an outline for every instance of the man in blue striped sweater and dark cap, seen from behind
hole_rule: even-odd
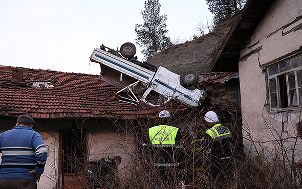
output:
[[[0,135],[0,188],[37,188],[47,159],[42,137],[32,117],[20,115],[16,126]]]

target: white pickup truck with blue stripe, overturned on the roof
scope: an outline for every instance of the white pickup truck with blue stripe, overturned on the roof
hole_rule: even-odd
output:
[[[91,61],[101,65],[101,79],[122,88],[117,92],[120,101],[160,106],[174,99],[189,106],[203,104],[206,92],[189,89],[197,82],[197,73],[189,72],[184,75],[182,86],[179,75],[162,66],[157,69],[152,64],[140,62],[134,57],[135,53],[133,43],[124,43],[120,51],[101,45],[90,56]]]

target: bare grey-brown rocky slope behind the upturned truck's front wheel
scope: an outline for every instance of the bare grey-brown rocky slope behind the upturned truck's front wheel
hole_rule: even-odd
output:
[[[232,27],[234,20],[235,18],[222,23],[215,27],[213,32],[195,40],[171,45],[157,56],[148,59],[147,62],[157,67],[162,65],[179,75],[183,75],[189,70],[196,70],[199,73],[210,72],[209,64]]]

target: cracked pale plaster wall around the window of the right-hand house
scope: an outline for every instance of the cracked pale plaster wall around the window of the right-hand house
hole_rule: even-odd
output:
[[[279,139],[281,135],[295,135],[294,125],[298,122],[298,112],[273,112],[267,107],[267,83],[263,71],[265,65],[300,48],[302,30],[292,29],[302,24],[301,16],[302,1],[276,1],[257,26],[251,42],[241,51],[239,73],[243,125],[250,129],[254,139],[268,141]],[[253,53],[248,55],[250,52]],[[249,137],[247,132],[244,135]],[[286,140],[284,145],[291,145],[293,142]]]

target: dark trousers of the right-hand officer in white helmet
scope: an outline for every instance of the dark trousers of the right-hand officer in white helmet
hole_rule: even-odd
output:
[[[211,175],[214,188],[226,188],[226,176],[232,168],[231,159],[211,159]]]

